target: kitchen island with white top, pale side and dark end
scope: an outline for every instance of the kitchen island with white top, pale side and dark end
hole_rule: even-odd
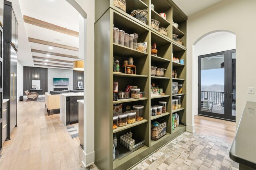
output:
[[[78,102],[84,99],[84,92],[60,94],[60,120],[66,125],[78,123]]]

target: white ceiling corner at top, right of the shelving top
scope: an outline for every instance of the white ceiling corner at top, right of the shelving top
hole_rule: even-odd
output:
[[[172,0],[185,14],[191,16],[222,0]]]

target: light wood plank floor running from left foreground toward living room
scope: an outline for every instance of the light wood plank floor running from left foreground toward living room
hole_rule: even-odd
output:
[[[60,114],[51,111],[48,116],[44,102],[18,102],[17,121],[11,140],[3,145],[1,170],[76,170],[82,166],[79,139],[71,139]]]

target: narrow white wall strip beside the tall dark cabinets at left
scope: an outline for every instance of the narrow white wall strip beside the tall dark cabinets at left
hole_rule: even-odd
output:
[[[23,65],[18,60],[17,63],[17,102],[23,96]]]

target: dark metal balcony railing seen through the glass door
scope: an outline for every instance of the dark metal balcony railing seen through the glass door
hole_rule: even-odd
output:
[[[213,104],[221,105],[224,102],[224,92],[201,91],[201,100],[210,100]]]

